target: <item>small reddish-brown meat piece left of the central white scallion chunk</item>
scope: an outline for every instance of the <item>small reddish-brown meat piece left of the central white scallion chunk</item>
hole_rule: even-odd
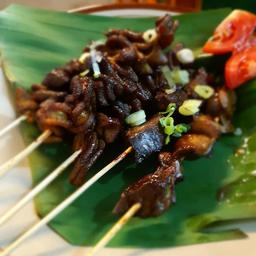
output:
[[[107,143],[112,143],[118,137],[121,131],[119,119],[108,117],[103,113],[97,116],[97,134]]]

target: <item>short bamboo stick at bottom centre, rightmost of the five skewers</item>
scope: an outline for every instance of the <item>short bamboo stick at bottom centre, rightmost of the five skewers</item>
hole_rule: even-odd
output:
[[[119,232],[121,228],[136,214],[141,208],[140,203],[136,203],[116,222],[116,224],[97,242],[91,251],[86,256],[94,256],[96,253],[103,249],[108,242]]]

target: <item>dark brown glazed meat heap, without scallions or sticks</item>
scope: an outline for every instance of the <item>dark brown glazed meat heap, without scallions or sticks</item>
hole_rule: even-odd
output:
[[[165,15],[156,21],[153,39],[146,40],[142,32],[109,30],[106,42],[86,47],[83,58],[53,69],[42,83],[32,85],[30,92],[16,90],[18,111],[41,131],[52,131],[49,143],[60,142],[68,135],[73,137],[73,150],[82,149],[70,174],[75,185],[84,183],[91,166],[108,149],[108,144],[120,136],[133,147],[138,163],[158,154],[156,171],[122,193],[115,207],[118,214],[135,202],[142,204],[138,212],[141,217],[163,213],[175,201],[174,186],[182,177],[181,161],[207,155],[220,134],[232,130],[234,94],[224,86],[213,86],[211,76],[203,68],[180,63],[175,52],[183,45],[166,49],[177,27],[178,22]],[[97,77],[93,69],[95,58],[100,70]],[[170,70],[187,70],[189,83],[176,84],[175,91],[167,92],[163,65]],[[200,98],[194,92],[197,84],[211,85],[214,95],[207,100]],[[174,113],[175,120],[190,124],[190,131],[173,138],[161,152],[165,134],[159,124],[160,112],[170,103],[178,108],[191,98],[202,100],[199,113],[192,117]],[[141,109],[148,121],[128,128],[125,118]]]

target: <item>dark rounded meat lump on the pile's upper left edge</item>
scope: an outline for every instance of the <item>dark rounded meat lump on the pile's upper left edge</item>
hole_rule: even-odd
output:
[[[60,90],[63,89],[69,82],[70,75],[63,68],[56,68],[49,72],[44,78],[42,84],[48,88]]]

